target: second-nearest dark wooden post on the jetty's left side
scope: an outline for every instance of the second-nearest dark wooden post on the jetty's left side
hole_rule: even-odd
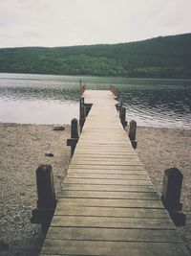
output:
[[[71,121],[71,139],[67,140],[67,146],[71,146],[71,157],[73,157],[74,149],[76,147],[78,139],[79,139],[79,135],[78,135],[77,119],[74,118]]]

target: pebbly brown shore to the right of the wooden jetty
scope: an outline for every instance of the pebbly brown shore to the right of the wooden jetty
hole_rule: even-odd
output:
[[[137,139],[139,159],[159,196],[165,169],[176,167],[183,175],[180,201],[186,214],[186,225],[177,229],[191,252],[191,130],[138,128]]]

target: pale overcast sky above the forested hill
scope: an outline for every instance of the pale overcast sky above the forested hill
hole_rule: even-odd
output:
[[[0,0],[0,48],[190,33],[190,10],[191,0]]]

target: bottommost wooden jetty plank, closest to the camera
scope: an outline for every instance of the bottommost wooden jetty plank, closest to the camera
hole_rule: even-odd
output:
[[[67,241],[57,239],[47,239],[41,255],[161,256],[161,251],[165,252],[165,256],[190,255],[183,244],[175,243]]]

